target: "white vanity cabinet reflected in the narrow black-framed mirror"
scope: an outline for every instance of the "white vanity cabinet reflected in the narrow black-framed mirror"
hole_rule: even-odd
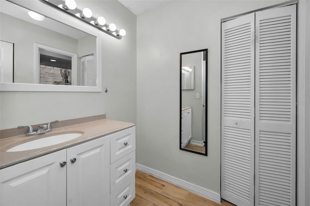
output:
[[[181,147],[184,148],[192,138],[192,108],[183,110],[181,118]]]

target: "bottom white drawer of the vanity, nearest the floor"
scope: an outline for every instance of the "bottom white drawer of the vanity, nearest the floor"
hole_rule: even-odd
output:
[[[135,176],[132,175],[121,187],[110,194],[110,205],[128,206],[135,195]]]

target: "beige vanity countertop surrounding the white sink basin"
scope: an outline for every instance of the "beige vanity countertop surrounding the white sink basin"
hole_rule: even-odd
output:
[[[26,134],[23,134],[0,139],[0,169],[67,147],[72,147],[74,145],[95,139],[97,137],[105,136],[112,132],[118,132],[133,126],[134,124],[129,122],[101,119],[62,128],[56,128],[53,129],[51,132],[47,132],[45,134],[38,134],[33,136],[26,136]],[[30,142],[32,140],[63,133],[81,133],[82,135],[76,139],[49,147],[42,147],[38,149],[31,149],[19,152],[6,152],[6,150],[11,147]]]

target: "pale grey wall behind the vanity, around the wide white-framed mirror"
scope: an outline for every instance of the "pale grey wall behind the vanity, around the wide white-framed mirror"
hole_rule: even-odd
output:
[[[122,40],[102,32],[102,92],[1,91],[0,129],[98,114],[136,123],[137,17],[117,0],[77,2],[81,8],[84,8],[82,4],[91,8],[93,16],[101,14],[107,22],[127,31]],[[108,93],[104,92],[105,87],[109,89]]]

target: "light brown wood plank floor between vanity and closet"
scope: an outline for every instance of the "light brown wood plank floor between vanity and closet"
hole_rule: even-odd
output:
[[[130,206],[233,206],[221,204],[172,185],[161,179],[136,171],[136,197]]]

